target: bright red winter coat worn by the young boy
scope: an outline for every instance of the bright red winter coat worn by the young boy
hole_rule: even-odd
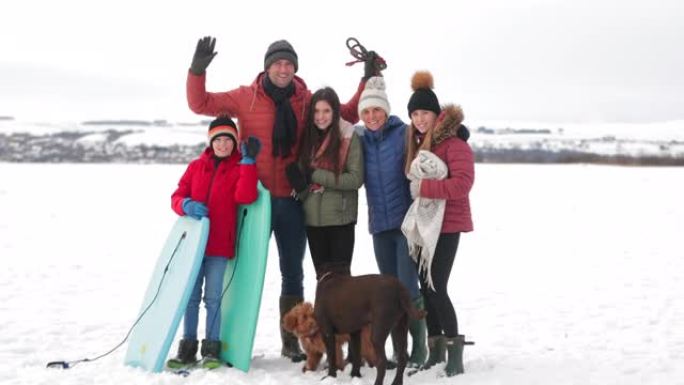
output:
[[[211,147],[188,165],[171,195],[171,207],[178,215],[183,212],[183,200],[190,198],[209,209],[209,239],[206,256],[233,258],[237,206],[252,203],[257,198],[257,171],[253,164],[238,164],[240,153],[233,153],[216,166]]]

